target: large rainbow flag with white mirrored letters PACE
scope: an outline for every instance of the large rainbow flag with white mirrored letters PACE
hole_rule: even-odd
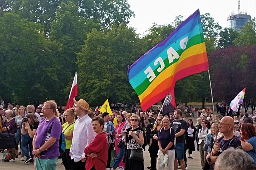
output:
[[[146,110],[170,93],[177,80],[205,70],[209,65],[198,9],[128,67],[128,79]]]

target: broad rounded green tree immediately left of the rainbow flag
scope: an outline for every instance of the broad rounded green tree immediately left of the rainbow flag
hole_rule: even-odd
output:
[[[127,65],[143,54],[141,40],[133,28],[113,25],[109,31],[93,30],[88,34],[79,67],[79,97],[91,105],[110,102],[136,102],[138,97],[127,77]]]

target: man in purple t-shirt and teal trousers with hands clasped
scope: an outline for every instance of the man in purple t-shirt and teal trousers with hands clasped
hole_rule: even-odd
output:
[[[61,122],[56,117],[57,104],[53,100],[44,102],[42,120],[33,138],[33,155],[37,170],[56,170],[59,153]]]

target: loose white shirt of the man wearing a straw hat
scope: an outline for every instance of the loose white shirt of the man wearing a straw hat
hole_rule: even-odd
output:
[[[93,142],[96,133],[93,130],[91,124],[91,118],[86,114],[85,116],[78,118],[75,123],[72,144],[70,148],[71,159],[75,162],[81,160],[86,148],[91,142]]]

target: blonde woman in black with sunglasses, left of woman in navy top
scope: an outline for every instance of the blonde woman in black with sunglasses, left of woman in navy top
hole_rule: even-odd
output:
[[[151,170],[157,169],[157,152],[159,150],[157,139],[158,139],[158,132],[162,128],[161,121],[163,119],[163,116],[157,117],[157,122],[155,123],[151,133],[150,133],[150,147],[148,148],[148,151],[150,153],[150,165]]]

